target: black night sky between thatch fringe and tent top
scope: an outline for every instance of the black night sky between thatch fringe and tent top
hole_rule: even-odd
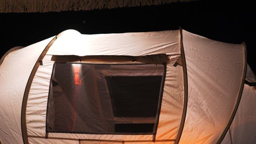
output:
[[[184,30],[213,40],[246,42],[248,63],[256,72],[256,12],[248,3],[195,1],[111,10],[0,13],[0,57],[14,46],[28,46],[67,29],[82,34]]]

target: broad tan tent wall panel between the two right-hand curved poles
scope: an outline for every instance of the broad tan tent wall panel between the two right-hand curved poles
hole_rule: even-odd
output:
[[[234,110],[246,66],[245,48],[242,44],[217,42],[186,31],[182,34],[188,108],[180,144],[213,144]]]

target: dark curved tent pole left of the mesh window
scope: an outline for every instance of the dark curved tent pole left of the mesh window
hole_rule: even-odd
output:
[[[36,64],[34,65],[32,72],[30,73],[30,76],[28,78],[28,82],[26,84],[26,89],[24,91],[24,96],[22,100],[22,107],[21,107],[21,132],[22,132],[22,139],[24,144],[28,144],[28,135],[27,135],[27,126],[26,126],[26,106],[27,106],[27,101],[28,101],[28,93],[32,84],[32,80],[36,74],[36,71],[39,67],[40,64],[42,64],[42,60],[46,54],[46,52],[49,50],[50,46],[54,43],[56,40],[57,36],[55,36],[49,44],[44,48],[40,56],[38,57]]]

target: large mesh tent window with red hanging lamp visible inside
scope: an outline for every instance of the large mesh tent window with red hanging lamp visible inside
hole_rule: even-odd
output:
[[[55,63],[47,132],[153,134],[162,64]]]

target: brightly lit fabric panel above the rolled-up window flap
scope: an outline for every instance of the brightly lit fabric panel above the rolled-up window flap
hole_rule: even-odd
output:
[[[69,34],[72,32],[72,34]],[[62,38],[63,37],[63,38]],[[145,56],[180,54],[179,30],[122,34],[79,34],[66,30],[52,44],[49,55]]]

